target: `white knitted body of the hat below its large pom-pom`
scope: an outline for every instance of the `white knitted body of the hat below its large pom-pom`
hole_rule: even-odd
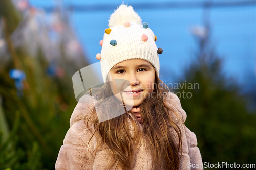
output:
[[[108,73],[113,66],[129,59],[144,59],[150,62],[159,75],[160,65],[157,46],[155,35],[151,29],[145,29],[135,22],[131,22],[130,27],[116,26],[111,29],[110,34],[104,34],[101,50],[102,60],[107,61],[105,64],[101,64],[104,82],[106,82]],[[146,42],[141,38],[143,34],[148,36]],[[112,46],[110,44],[111,40],[116,40],[117,44]]]

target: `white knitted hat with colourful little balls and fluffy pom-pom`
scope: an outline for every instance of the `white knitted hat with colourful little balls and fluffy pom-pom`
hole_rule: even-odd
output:
[[[159,76],[159,58],[161,48],[156,46],[156,36],[141,23],[140,16],[132,6],[120,5],[110,16],[109,27],[105,30],[104,39],[100,41],[101,54],[96,58],[101,61],[101,72],[104,83],[108,73],[116,64],[129,59],[144,59],[150,62]]]

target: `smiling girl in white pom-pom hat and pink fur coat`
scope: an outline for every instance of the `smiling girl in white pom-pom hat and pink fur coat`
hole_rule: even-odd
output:
[[[203,169],[180,100],[159,79],[157,37],[127,5],[109,27],[96,55],[105,84],[75,107],[55,169]]]

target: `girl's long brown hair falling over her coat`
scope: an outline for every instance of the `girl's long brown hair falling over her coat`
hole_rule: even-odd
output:
[[[180,119],[179,114],[165,103],[164,99],[168,91],[170,91],[169,88],[159,79],[155,71],[155,86],[151,97],[146,98],[140,104],[140,115],[143,121],[141,131],[138,126],[139,122],[131,110],[110,120],[99,122],[95,108],[101,108],[104,112],[102,115],[109,115],[114,109],[116,111],[117,108],[120,108],[118,106],[122,102],[115,98],[109,98],[113,96],[113,93],[108,82],[100,90],[98,89],[96,95],[98,102],[92,108],[92,114],[86,125],[90,128],[89,122],[91,122],[91,125],[94,126],[95,131],[91,139],[94,135],[97,139],[101,139],[95,151],[100,149],[102,144],[110,149],[112,158],[108,168],[112,168],[114,164],[121,169],[132,168],[134,148],[139,143],[142,133],[145,135],[147,148],[151,153],[152,169],[179,168],[182,155],[182,126],[178,126],[170,116],[170,114],[175,114]],[[129,113],[132,113],[134,118],[129,116]],[[134,129],[134,137],[129,132],[128,119],[131,120]],[[181,124],[183,125],[182,122]],[[170,128],[177,133],[178,143],[176,144],[173,134],[170,133]]]

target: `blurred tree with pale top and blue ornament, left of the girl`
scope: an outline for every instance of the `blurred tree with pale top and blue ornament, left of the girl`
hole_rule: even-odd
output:
[[[0,169],[54,169],[77,104],[72,76],[88,62],[60,10],[49,26],[16,2],[0,2]]]

